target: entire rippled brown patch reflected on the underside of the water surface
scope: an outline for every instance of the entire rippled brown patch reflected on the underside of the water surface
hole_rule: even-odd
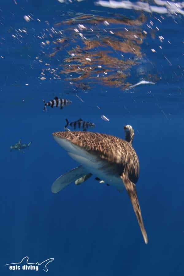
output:
[[[146,21],[146,17],[141,14],[137,19],[130,19],[121,14],[115,15],[103,17],[82,14],[57,24],[72,26],[62,30],[63,37],[56,37],[54,43],[57,47],[48,56],[53,57],[63,49],[67,55],[63,58],[62,53],[58,59],[59,69],[49,72],[56,78],[59,74],[65,74],[65,80],[69,81],[70,85],[83,91],[90,88],[88,83],[93,86],[94,83],[102,82],[121,89],[131,86],[127,77],[131,68],[139,63],[142,57],[141,44],[147,37],[138,26]],[[103,26],[97,26],[102,23],[106,25],[105,29]],[[121,26],[109,27],[108,23]],[[129,27],[125,28],[123,25]]]

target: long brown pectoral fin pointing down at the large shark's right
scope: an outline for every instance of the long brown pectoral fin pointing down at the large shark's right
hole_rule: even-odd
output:
[[[143,223],[143,219],[142,219],[142,215],[141,215],[141,210],[140,210],[140,205],[139,205],[139,200],[137,197],[137,191],[136,191],[136,185],[131,182],[125,174],[121,175],[121,179],[125,185],[125,189],[127,190],[127,193],[130,197],[130,200],[132,202],[132,206],[134,209],[134,212],[136,214],[139,226],[140,226],[140,230],[142,232],[143,238],[145,243],[148,243],[148,237],[147,237],[147,233],[146,230],[144,228],[144,223]]]

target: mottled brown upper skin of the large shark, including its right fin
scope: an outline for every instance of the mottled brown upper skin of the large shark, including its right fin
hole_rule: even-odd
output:
[[[107,167],[118,172],[132,202],[144,241],[148,243],[135,186],[139,178],[139,159],[132,144],[116,136],[97,132],[54,132],[53,135],[65,138],[98,159],[103,159]]]

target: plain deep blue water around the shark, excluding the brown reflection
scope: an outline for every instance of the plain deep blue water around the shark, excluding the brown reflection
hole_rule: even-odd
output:
[[[25,256],[30,263],[54,258],[48,265],[51,275],[183,275],[183,18],[164,16],[155,39],[148,37],[142,46],[143,69],[149,68],[149,73],[156,72],[162,78],[156,85],[125,92],[99,84],[89,93],[79,91],[82,103],[75,94],[67,94],[63,79],[38,79],[42,65],[35,57],[40,55],[40,40],[34,32],[38,35],[42,30],[42,21],[49,20],[51,26],[58,22],[59,14],[68,9],[76,13],[99,10],[100,15],[114,10],[96,7],[92,1],[65,5],[48,0],[17,0],[17,5],[13,0],[1,0],[0,9],[2,275],[36,273],[4,267]],[[127,10],[116,12],[138,15]],[[36,20],[24,20],[30,13],[34,19],[40,18],[40,25]],[[148,32],[146,24],[160,15],[146,15],[142,29]],[[19,43],[13,40],[15,31],[9,31],[10,27],[26,27],[29,35]],[[36,30],[33,33],[32,28]],[[162,50],[159,35],[164,37]],[[140,81],[135,71],[132,83]],[[72,104],[43,113],[42,99],[50,100],[58,93]],[[110,121],[103,121],[101,115]],[[133,126],[133,146],[140,159],[137,191],[148,245],[126,193],[120,194],[94,178],[51,193],[53,181],[78,165],[52,139],[52,132],[63,130],[65,117],[92,121],[94,131],[122,138],[123,126]],[[19,138],[24,143],[33,140],[25,154],[9,151]]]

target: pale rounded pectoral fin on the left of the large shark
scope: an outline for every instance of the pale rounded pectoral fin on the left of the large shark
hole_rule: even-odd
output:
[[[70,183],[74,182],[80,177],[83,177],[86,174],[89,174],[89,171],[86,171],[84,167],[79,166],[59,176],[59,178],[57,178],[55,182],[52,184],[52,193],[58,193],[59,191],[63,190],[66,186],[68,186]]]

